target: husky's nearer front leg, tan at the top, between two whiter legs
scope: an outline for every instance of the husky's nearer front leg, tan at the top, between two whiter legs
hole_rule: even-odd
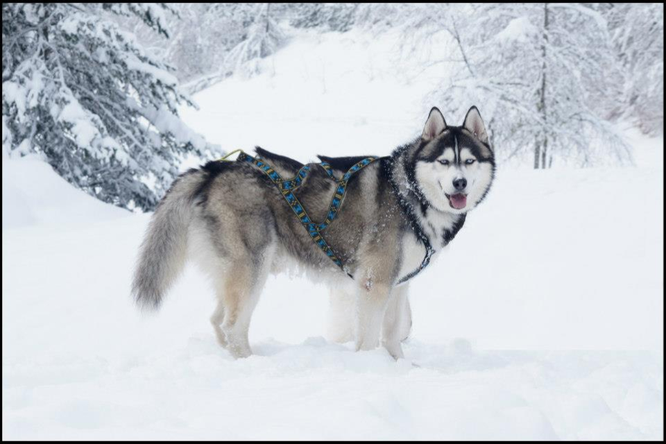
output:
[[[379,345],[379,334],[386,310],[386,302],[391,296],[391,285],[373,282],[366,278],[361,282],[357,296],[356,350],[373,350]]]

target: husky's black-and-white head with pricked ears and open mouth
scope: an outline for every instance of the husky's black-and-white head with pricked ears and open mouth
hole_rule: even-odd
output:
[[[495,176],[495,155],[475,106],[462,126],[447,126],[432,108],[413,159],[414,178],[436,210],[464,214],[486,196]]]

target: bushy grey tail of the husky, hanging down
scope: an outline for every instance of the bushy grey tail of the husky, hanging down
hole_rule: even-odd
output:
[[[203,172],[181,176],[153,214],[139,251],[132,294],[142,309],[156,310],[185,267],[189,223]]]

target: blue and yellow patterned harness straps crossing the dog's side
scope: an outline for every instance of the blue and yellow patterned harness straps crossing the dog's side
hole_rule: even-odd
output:
[[[296,195],[293,194],[293,191],[298,189],[302,181],[307,177],[307,174],[310,171],[309,165],[305,165],[300,170],[298,170],[298,173],[296,173],[296,176],[294,176],[292,179],[284,180],[282,177],[280,177],[278,171],[275,171],[275,169],[273,169],[271,165],[267,164],[261,157],[252,157],[251,155],[241,151],[237,157],[237,162],[248,162],[249,164],[257,167],[259,171],[262,171],[262,173],[264,173],[264,175],[266,175],[268,179],[273,182],[273,185],[278,187],[280,194],[282,194],[284,200],[287,200],[289,207],[291,207],[291,210],[293,210],[294,214],[296,214],[296,217],[298,217],[298,220],[303,225],[303,228],[305,228],[312,241],[314,241],[314,244],[316,244],[316,246],[318,246],[329,257],[329,259],[334,262],[334,264],[339,266],[342,271],[347,273],[350,278],[353,278],[353,276],[345,270],[342,261],[333,253],[333,250],[328,245],[321,232],[328,225],[330,225],[330,223],[332,223],[332,221],[334,221],[335,217],[337,216],[342,205],[342,201],[345,198],[345,194],[347,193],[347,182],[349,182],[350,178],[355,173],[377,160],[377,158],[378,157],[366,157],[364,160],[361,160],[361,162],[357,162],[339,180],[336,179],[333,175],[333,169],[330,164],[327,162],[321,162],[319,164],[324,169],[324,171],[326,171],[327,175],[337,182],[333,198],[331,199],[331,205],[328,209],[328,214],[325,221],[322,223],[316,223],[312,221],[310,216],[307,215],[305,207],[303,207],[303,205],[298,201]]]

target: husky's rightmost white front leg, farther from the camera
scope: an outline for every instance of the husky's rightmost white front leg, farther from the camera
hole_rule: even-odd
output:
[[[382,345],[395,359],[404,358],[400,342],[407,339],[411,329],[411,309],[407,299],[407,285],[395,287],[384,312]]]

